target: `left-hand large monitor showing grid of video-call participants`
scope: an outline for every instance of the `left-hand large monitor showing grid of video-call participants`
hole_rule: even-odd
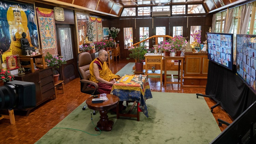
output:
[[[233,34],[207,32],[208,59],[233,70]]]

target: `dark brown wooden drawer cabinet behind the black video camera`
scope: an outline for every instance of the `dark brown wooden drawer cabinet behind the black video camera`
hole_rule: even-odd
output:
[[[46,68],[36,72],[28,72],[25,75],[15,74],[15,80],[24,82],[32,82],[35,84],[36,93],[36,106],[42,104],[50,98],[55,99],[53,70],[52,68]],[[27,115],[33,108],[23,109],[27,111]]]

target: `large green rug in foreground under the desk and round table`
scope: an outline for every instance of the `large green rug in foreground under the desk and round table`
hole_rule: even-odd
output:
[[[108,113],[114,121],[111,131],[99,136],[70,129],[51,129],[37,143],[43,144],[207,144],[221,133],[204,98],[196,94],[152,92],[146,100],[148,115],[141,112],[140,121]],[[98,134],[91,122],[90,109],[77,107],[56,127],[79,129]],[[131,104],[129,104],[130,106]],[[99,113],[93,115],[96,125]]]

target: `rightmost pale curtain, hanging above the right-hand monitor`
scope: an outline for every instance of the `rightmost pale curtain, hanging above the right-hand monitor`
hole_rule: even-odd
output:
[[[247,6],[243,5],[242,13],[241,13],[241,30],[240,34],[246,34],[249,25],[250,13],[252,10],[252,3],[247,4]]]

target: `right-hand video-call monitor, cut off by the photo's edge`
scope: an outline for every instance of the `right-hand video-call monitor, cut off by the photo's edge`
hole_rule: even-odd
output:
[[[256,35],[237,35],[237,74],[256,93]]]

